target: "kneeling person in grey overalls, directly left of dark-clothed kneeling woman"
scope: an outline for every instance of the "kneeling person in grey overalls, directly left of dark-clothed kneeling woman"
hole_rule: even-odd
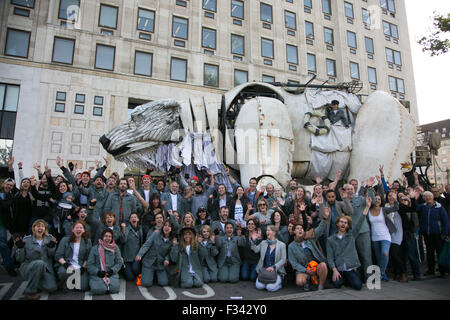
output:
[[[231,222],[225,223],[225,234],[216,238],[216,247],[219,250],[217,256],[217,267],[219,269],[217,277],[220,282],[236,283],[239,281],[241,268],[241,256],[239,247],[245,246],[245,239],[241,237],[241,229],[236,231],[235,225]]]

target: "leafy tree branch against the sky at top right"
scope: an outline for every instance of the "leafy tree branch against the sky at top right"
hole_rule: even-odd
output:
[[[434,12],[433,21],[435,32],[417,41],[423,47],[422,51],[429,52],[432,57],[447,53],[450,48],[448,34],[445,38],[446,33],[450,31],[450,14],[445,16]]]

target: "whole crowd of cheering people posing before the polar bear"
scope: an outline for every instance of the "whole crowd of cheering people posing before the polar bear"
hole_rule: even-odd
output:
[[[77,290],[92,294],[118,292],[120,277],[145,287],[252,281],[272,292],[289,282],[360,290],[374,264],[383,281],[420,280],[424,260],[425,274],[434,275],[449,235],[450,185],[424,191],[417,175],[414,185],[388,185],[383,167],[342,186],[341,172],[332,183],[317,177],[311,193],[295,180],[285,190],[257,189],[252,178],[243,188],[227,169],[228,193],[210,172],[166,180],[146,174],[137,188],[134,178],[106,178],[105,161],[95,174],[76,173],[58,157],[62,174],[35,164],[29,178],[19,162],[17,186],[9,161],[0,253],[7,272],[28,281],[28,299],[69,290],[75,273]]]

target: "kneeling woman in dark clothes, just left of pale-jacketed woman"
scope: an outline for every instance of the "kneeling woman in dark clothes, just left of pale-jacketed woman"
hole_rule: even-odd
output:
[[[259,235],[256,245],[262,241],[261,229],[259,228],[259,223],[257,219],[249,219],[247,221],[247,232],[243,235],[245,238],[245,246],[239,247],[239,253],[241,255],[241,280],[255,282],[258,274],[256,272],[256,265],[259,261],[259,253],[253,252],[251,249],[251,235],[257,233]],[[259,230],[259,231],[258,231]],[[259,233],[258,233],[259,232]]]

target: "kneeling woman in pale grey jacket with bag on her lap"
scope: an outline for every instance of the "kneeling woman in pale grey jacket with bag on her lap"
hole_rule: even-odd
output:
[[[264,284],[256,279],[256,288],[259,290],[267,289],[267,291],[278,291],[281,289],[283,277],[286,274],[284,264],[286,263],[286,244],[276,239],[278,230],[274,225],[267,226],[267,240],[262,241],[258,246],[252,243],[251,248],[254,252],[260,252],[256,272],[258,275],[264,268],[269,272],[276,272],[277,278],[275,283]],[[252,241],[256,241],[256,233],[252,235]]]

